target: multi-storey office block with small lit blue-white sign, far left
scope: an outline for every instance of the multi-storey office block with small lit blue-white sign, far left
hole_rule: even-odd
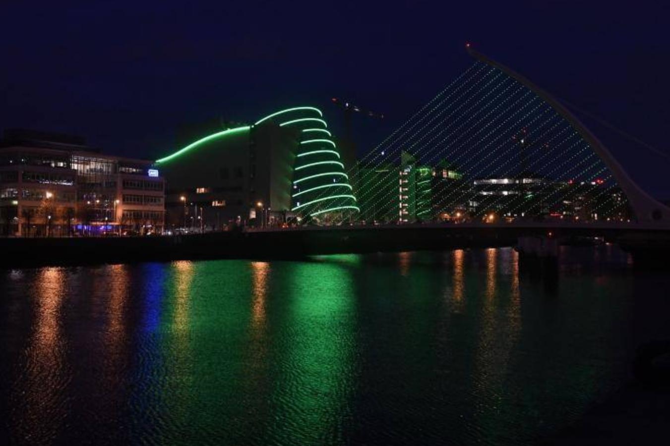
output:
[[[161,232],[163,190],[151,161],[104,155],[80,137],[13,129],[0,142],[4,234]]]

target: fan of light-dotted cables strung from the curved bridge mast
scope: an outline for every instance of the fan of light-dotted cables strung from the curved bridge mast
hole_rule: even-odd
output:
[[[515,138],[521,129],[529,129],[523,149],[520,149],[523,143]],[[519,161],[522,150],[523,163]],[[612,198],[616,190],[612,176],[572,126],[529,88],[482,62],[470,66],[362,158],[359,165],[366,169],[358,175],[358,184],[368,183],[375,178],[373,175],[377,175],[379,181],[371,188],[356,191],[359,204],[364,202],[369,208],[380,208],[397,196],[388,185],[399,175],[403,151],[415,157],[417,166],[430,167],[446,160],[458,166],[465,181],[470,183],[487,177],[527,174],[541,177],[546,181],[534,192],[549,202],[545,203],[547,206],[579,195],[580,188],[592,190],[593,185],[602,186],[592,196],[596,209],[607,212],[608,206],[620,205]],[[384,166],[391,168],[379,177]],[[570,188],[557,187],[557,184],[568,183]],[[494,209],[502,200],[509,200],[506,196],[472,194],[472,190],[453,188],[435,197],[433,206],[435,209],[454,208],[476,199],[481,209]],[[523,214],[531,205],[537,203],[521,201],[508,211]],[[397,209],[391,208],[389,214],[385,218],[397,216]]]

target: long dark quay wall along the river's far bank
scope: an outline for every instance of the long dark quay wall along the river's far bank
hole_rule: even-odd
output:
[[[202,258],[298,258],[316,254],[513,246],[516,234],[496,230],[366,229],[211,232],[182,236],[3,238],[0,267],[90,265]]]

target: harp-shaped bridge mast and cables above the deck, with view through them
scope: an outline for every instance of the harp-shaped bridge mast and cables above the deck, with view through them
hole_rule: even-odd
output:
[[[670,225],[563,104],[467,49],[472,66],[347,166],[360,214],[334,222]]]

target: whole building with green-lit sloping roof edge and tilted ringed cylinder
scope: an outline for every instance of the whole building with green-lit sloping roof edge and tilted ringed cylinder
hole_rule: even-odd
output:
[[[253,125],[211,129],[155,161],[168,181],[175,228],[216,230],[235,222],[328,224],[359,210],[348,173],[318,108],[288,108]]]

